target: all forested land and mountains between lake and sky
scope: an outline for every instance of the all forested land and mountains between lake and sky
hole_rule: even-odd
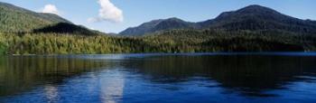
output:
[[[250,5],[200,23],[178,18],[107,35],[55,14],[39,14],[0,3],[1,54],[134,52],[315,52],[315,22]],[[135,34],[134,34],[135,33]],[[129,34],[127,34],[129,35]]]

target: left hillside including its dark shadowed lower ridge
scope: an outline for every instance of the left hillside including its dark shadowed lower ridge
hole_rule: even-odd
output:
[[[97,34],[75,25],[57,14],[33,11],[0,2],[0,32],[3,33],[76,33]]]

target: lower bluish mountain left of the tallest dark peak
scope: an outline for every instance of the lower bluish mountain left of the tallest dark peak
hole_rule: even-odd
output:
[[[137,27],[131,27],[125,31],[119,33],[122,35],[143,35],[145,33],[154,33],[158,31],[182,29],[182,28],[194,28],[195,23],[185,22],[178,18],[159,19],[153,20],[148,23],[143,23]]]

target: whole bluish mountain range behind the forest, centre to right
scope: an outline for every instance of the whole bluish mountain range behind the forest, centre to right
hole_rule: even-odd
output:
[[[249,5],[236,11],[224,12],[215,19],[198,23],[180,19],[155,20],[128,28],[122,35],[144,35],[172,29],[222,29],[226,31],[283,31],[290,33],[316,33],[316,22],[281,14],[261,5]],[[161,25],[166,25],[162,26]],[[160,29],[161,28],[161,29]]]

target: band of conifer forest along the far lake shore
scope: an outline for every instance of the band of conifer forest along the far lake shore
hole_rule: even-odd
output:
[[[316,37],[278,31],[172,30],[141,37],[67,33],[0,34],[7,54],[101,54],[135,52],[304,52]]]

